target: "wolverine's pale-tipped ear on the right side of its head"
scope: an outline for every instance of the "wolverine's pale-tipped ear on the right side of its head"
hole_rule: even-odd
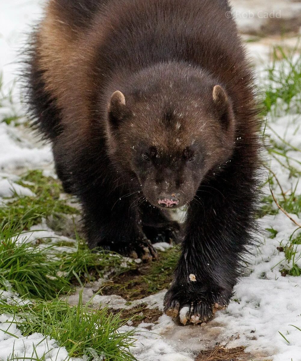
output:
[[[223,126],[228,128],[234,121],[232,105],[228,95],[220,85],[215,85],[212,96],[214,104],[217,107],[217,112],[221,123]]]

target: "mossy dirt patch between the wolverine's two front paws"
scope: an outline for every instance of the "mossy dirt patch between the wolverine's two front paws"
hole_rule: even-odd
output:
[[[179,247],[159,252],[157,260],[114,275],[102,284],[100,292],[102,295],[118,295],[133,301],[169,288],[179,254]]]

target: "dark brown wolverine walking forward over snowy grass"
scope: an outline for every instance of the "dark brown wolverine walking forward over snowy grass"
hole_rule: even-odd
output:
[[[89,246],[147,261],[158,239],[182,243],[164,300],[182,323],[228,305],[252,244],[257,104],[230,11],[227,0],[49,0],[26,61],[33,126],[82,205]]]

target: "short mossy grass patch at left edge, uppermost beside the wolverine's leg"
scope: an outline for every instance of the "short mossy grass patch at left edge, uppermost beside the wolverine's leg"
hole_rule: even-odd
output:
[[[35,196],[15,196],[0,208],[3,223],[12,223],[18,231],[29,230],[53,213],[79,214],[76,208],[60,199],[61,184],[51,177],[44,177],[41,170],[29,171],[17,182],[29,188]]]

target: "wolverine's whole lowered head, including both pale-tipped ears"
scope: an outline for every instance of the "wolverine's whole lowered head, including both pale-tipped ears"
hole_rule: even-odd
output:
[[[151,204],[180,208],[231,156],[235,119],[221,85],[196,70],[165,67],[140,75],[135,91],[113,92],[109,151],[135,173]]]

